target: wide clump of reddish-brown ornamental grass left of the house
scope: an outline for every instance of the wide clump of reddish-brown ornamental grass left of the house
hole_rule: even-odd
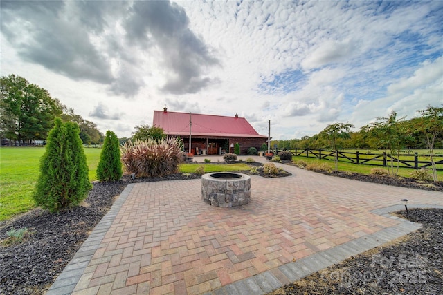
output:
[[[179,164],[185,159],[179,140],[128,141],[122,146],[122,162],[125,171],[137,178],[163,177],[179,172]]]

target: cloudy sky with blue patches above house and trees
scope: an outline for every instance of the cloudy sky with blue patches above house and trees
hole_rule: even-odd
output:
[[[235,115],[275,139],[443,104],[443,1],[1,1],[1,76],[102,133],[154,110]]]

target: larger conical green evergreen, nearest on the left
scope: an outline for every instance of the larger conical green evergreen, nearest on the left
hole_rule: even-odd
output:
[[[36,204],[43,209],[56,212],[77,206],[91,189],[79,133],[77,124],[55,119],[33,193]]]

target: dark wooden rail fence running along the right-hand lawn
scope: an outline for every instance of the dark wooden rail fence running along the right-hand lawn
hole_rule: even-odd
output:
[[[274,149],[275,153],[280,151],[289,151],[286,149]],[[290,151],[295,156],[305,156],[307,158],[318,158],[324,160],[334,160],[334,151],[325,149],[295,149]],[[412,168],[422,169],[431,167],[430,160],[424,160],[429,158],[429,155],[414,154],[400,154],[390,155],[389,153],[361,153],[356,151],[355,153],[348,151],[338,151],[339,162],[350,162],[353,164],[366,164],[374,166],[389,166],[392,160],[397,166],[397,162],[400,168]],[[438,171],[443,171],[443,155],[434,155],[434,162],[437,165]]]

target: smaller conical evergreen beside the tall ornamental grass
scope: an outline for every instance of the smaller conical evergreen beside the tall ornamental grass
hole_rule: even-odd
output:
[[[101,181],[119,180],[123,175],[122,162],[120,161],[120,145],[116,133],[106,131],[105,142],[103,142],[100,162],[97,166],[97,177]]]

